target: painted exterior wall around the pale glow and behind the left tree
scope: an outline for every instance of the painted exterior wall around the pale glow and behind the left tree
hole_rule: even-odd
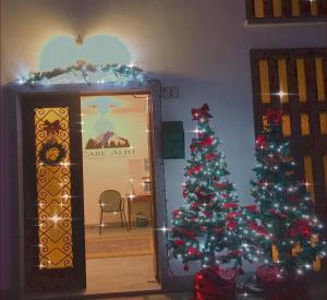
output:
[[[55,35],[120,37],[135,63],[180,87],[179,99],[162,100],[164,120],[181,120],[190,131],[190,109],[208,103],[230,179],[249,202],[254,165],[249,51],[326,47],[327,38],[324,24],[246,26],[244,21],[242,0],[2,0],[2,77],[10,81],[22,70],[38,69],[39,53]],[[187,155],[191,137],[186,133]],[[182,204],[183,166],[184,160],[165,161],[169,214]],[[180,269],[172,263],[173,273],[183,275]]]

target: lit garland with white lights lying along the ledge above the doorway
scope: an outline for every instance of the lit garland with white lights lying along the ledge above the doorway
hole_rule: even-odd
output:
[[[129,67],[124,64],[93,64],[85,61],[77,61],[74,65],[65,69],[56,68],[52,71],[31,72],[28,75],[21,77],[19,84],[34,85],[47,84],[51,79],[60,75],[81,76],[85,83],[93,82],[89,77],[96,75],[95,83],[107,82],[131,82],[145,80],[144,72],[138,67]]]

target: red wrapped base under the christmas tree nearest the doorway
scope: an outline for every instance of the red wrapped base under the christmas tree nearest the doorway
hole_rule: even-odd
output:
[[[235,278],[233,268],[204,268],[194,275],[193,300],[234,300]]]

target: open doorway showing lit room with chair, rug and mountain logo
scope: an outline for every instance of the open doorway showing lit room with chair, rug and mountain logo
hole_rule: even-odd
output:
[[[81,97],[87,292],[157,290],[148,94]]]

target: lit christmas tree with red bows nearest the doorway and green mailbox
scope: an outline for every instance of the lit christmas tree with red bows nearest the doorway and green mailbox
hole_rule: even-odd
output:
[[[185,167],[184,204],[173,212],[169,249],[184,269],[190,261],[215,267],[242,263],[242,239],[238,217],[238,195],[229,175],[219,140],[209,125],[209,108],[192,109],[197,122],[196,137],[191,143],[191,159]]]

